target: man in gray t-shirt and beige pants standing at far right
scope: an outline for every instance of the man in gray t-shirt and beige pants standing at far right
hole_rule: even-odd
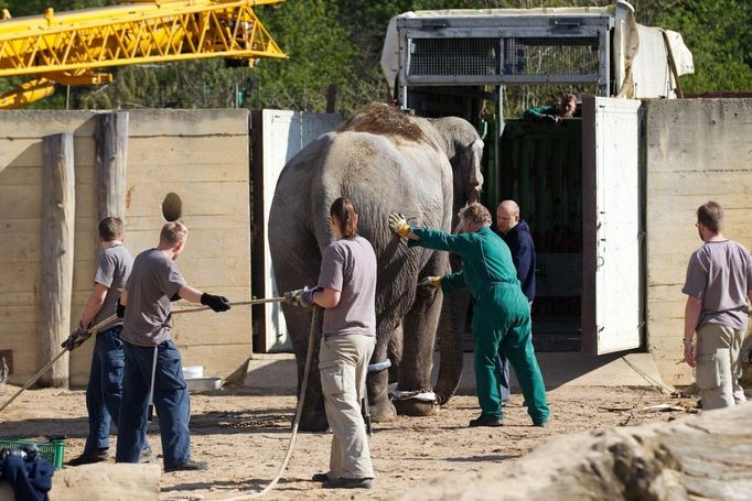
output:
[[[697,368],[702,409],[710,410],[746,400],[739,378],[748,298],[752,301],[752,260],[744,247],[723,237],[723,209],[717,203],[709,202],[697,209],[696,226],[705,244],[689,259],[681,288],[688,296],[684,358]]]

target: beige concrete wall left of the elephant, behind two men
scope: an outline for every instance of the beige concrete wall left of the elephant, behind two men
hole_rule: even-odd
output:
[[[159,242],[162,200],[175,193],[190,236],[179,265],[187,282],[230,301],[250,298],[249,144],[246,110],[130,111],[126,247]],[[41,138],[74,134],[76,175],[72,326],[93,284],[96,255],[95,113],[0,113],[0,350],[12,350],[10,381],[36,372],[41,270]],[[250,357],[250,308],[176,316],[185,366],[228,375]],[[85,384],[93,342],[72,353],[71,382]]]

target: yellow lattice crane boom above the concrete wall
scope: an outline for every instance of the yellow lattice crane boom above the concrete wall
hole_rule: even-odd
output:
[[[112,81],[101,68],[223,57],[253,66],[286,58],[254,12],[282,0],[131,0],[97,9],[11,19],[0,14],[0,77],[34,76],[0,95],[19,108],[54,92],[55,84]]]

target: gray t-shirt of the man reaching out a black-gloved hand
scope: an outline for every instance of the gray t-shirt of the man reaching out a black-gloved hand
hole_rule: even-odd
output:
[[[170,339],[172,319],[170,297],[185,285],[178,264],[159,249],[136,257],[126,291],[128,305],[122,324],[122,339],[151,347]]]

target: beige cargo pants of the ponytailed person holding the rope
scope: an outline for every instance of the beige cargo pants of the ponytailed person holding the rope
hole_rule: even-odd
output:
[[[374,336],[357,334],[321,339],[321,389],[326,420],[334,434],[329,461],[331,479],[374,478],[361,399],[375,342]]]

